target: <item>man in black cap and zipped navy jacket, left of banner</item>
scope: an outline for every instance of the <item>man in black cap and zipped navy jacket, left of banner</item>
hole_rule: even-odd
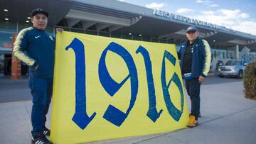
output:
[[[18,33],[14,43],[14,56],[29,67],[28,85],[32,94],[31,121],[33,130],[32,143],[50,144],[46,135],[46,114],[48,113],[53,93],[53,67],[55,38],[46,33],[48,12],[41,8],[34,9],[31,14],[32,27]],[[56,31],[62,32],[62,28]]]

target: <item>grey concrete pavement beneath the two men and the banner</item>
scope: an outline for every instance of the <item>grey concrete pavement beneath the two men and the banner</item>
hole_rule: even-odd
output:
[[[245,99],[242,82],[203,84],[200,125],[171,133],[101,143],[256,143],[256,101]],[[190,108],[190,100],[188,100]],[[0,103],[0,143],[31,143],[31,101]],[[50,115],[48,116],[50,119]],[[47,125],[50,127],[50,121]]]

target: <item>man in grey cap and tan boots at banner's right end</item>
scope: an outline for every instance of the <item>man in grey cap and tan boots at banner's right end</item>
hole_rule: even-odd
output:
[[[188,40],[182,43],[178,51],[181,73],[191,99],[191,114],[187,125],[189,128],[198,126],[200,87],[210,70],[211,60],[210,45],[198,35],[198,28],[189,26],[186,30]]]

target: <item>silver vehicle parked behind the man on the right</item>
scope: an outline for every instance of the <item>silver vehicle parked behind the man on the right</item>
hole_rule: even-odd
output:
[[[217,73],[219,77],[238,77],[242,78],[245,67],[250,60],[229,60],[225,65],[219,66]]]

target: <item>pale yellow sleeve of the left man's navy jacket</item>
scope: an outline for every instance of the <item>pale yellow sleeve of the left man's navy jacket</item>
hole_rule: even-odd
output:
[[[22,49],[21,43],[26,32],[30,31],[31,29],[33,28],[30,27],[30,28],[23,29],[20,33],[18,33],[17,38],[14,42],[14,56],[17,57],[22,62],[25,62],[26,65],[28,66],[32,66],[35,63],[35,60],[33,60],[33,58],[31,57],[28,57],[28,55],[26,55],[26,53],[23,52],[23,50],[21,50]],[[23,48],[23,49],[26,49],[26,48]]]

